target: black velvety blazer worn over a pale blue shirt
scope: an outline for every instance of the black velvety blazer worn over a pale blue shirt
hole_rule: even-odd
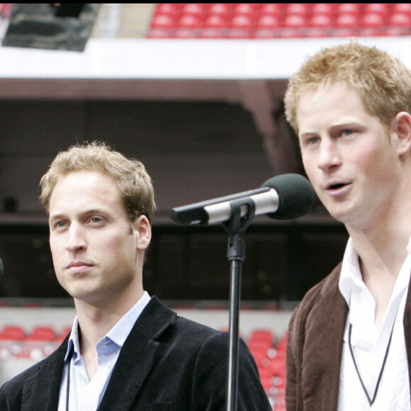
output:
[[[1,411],[56,411],[68,337],[0,388]],[[179,317],[153,297],[120,351],[98,411],[225,410],[228,335]],[[270,411],[240,342],[238,410]]]

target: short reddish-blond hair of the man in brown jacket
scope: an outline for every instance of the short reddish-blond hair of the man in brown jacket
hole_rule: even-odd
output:
[[[366,111],[378,117],[386,130],[400,111],[411,113],[410,69],[387,52],[353,40],[317,52],[291,77],[284,103],[287,121],[297,134],[301,96],[340,80],[359,92]]]

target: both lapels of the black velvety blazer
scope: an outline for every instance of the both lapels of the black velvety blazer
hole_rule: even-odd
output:
[[[152,297],[125,340],[98,411],[129,410],[154,364],[156,339],[176,320],[176,313]],[[38,364],[38,372],[23,387],[22,411],[55,411],[67,352],[60,347]],[[41,387],[39,387],[39,381]]]

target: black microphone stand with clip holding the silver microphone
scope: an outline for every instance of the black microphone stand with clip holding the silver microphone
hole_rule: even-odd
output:
[[[247,214],[241,217],[241,208],[244,205],[247,206]],[[254,218],[255,203],[252,198],[246,197],[230,201],[230,207],[230,220],[223,223],[229,233],[227,259],[230,261],[230,344],[228,349],[226,411],[236,411],[241,274],[242,263],[245,259],[244,234]]]

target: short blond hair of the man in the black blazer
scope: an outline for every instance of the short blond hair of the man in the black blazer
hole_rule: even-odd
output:
[[[59,179],[72,171],[99,171],[110,176],[123,199],[130,221],[139,215],[146,215],[150,224],[154,218],[156,205],[152,179],[144,164],[128,159],[105,142],[84,142],[59,152],[49,169],[40,180],[40,201],[47,213],[50,197]]]

